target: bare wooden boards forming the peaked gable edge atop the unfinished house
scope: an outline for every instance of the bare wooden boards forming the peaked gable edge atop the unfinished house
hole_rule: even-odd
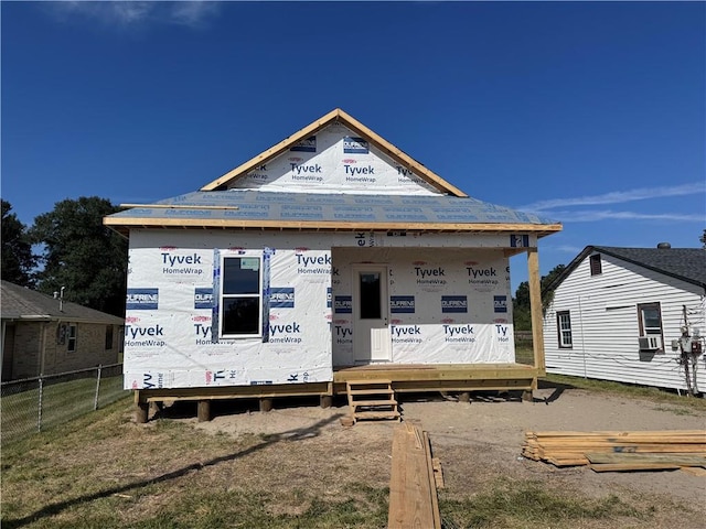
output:
[[[429,183],[431,186],[436,187],[440,192],[448,193],[453,196],[468,196],[461,190],[448,183],[446,180],[443,180],[441,176],[436,174],[434,171],[430,171],[429,169],[425,168],[421,163],[417,162],[415,159],[413,159],[402,150],[397,149],[387,140],[377,136],[371,129],[365,127],[359,120],[347,115],[340,108],[335,108],[331,110],[325,116],[313,121],[312,123],[308,125],[303,129],[295,132],[289,138],[284,139],[276,145],[272,145],[269,149],[267,149],[265,152],[261,152],[257,156],[228,171],[223,176],[204,185],[203,187],[201,187],[201,191],[224,190],[228,183],[239,179],[240,176],[244,176],[245,174],[248,173],[248,171],[252,171],[258,165],[263,165],[267,163],[268,161],[272,160],[279,154],[282,154],[285,151],[287,151],[291,147],[296,145],[301,140],[304,140],[310,136],[315,134],[318,131],[320,131],[324,127],[328,127],[329,125],[336,121],[344,125],[349,129],[353,130],[361,138],[370,141],[373,145],[377,147],[381,151],[383,151],[385,154],[387,154],[393,160],[398,162],[402,166],[409,169],[414,173],[418,174],[419,177],[421,177],[424,181],[426,181],[427,183]]]

